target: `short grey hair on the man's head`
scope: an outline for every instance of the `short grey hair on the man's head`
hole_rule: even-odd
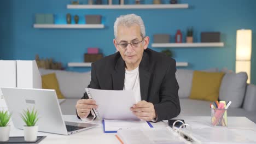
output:
[[[141,16],[137,16],[136,14],[129,15],[121,15],[117,17],[114,23],[114,35],[117,38],[117,28],[118,26],[131,27],[133,25],[138,25],[141,28],[141,37],[144,38],[146,36],[144,22],[141,19]]]

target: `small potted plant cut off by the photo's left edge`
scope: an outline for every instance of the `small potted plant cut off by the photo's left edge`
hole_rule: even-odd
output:
[[[10,134],[10,117],[8,111],[0,110],[0,141],[8,141]]]

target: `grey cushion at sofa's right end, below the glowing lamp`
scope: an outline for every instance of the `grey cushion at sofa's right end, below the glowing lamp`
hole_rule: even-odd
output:
[[[225,74],[220,85],[219,100],[232,101],[230,107],[241,107],[246,92],[247,74]]]

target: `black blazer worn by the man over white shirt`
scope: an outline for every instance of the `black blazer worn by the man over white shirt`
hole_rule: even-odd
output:
[[[181,112],[176,61],[164,53],[144,50],[139,64],[141,99],[154,104],[158,121],[176,117]],[[102,58],[91,65],[89,88],[123,90],[125,62],[120,53]],[[106,96],[107,97],[107,96]],[[86,95],[84,97],[86,99]],[[97,102],[96,102],[97,103]]]

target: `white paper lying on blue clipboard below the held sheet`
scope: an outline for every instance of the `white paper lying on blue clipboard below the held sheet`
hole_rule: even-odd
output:
[[[105,131],[118,131],[120,129],[150,128],[146,121],[104,119]]]

